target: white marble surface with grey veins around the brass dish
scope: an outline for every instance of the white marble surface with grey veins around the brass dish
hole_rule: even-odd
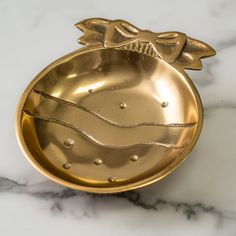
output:
[[[1,235],[236,235],[236,1],[0,0]],[[47,64],[79,47],[73,27],[121,18],[178,30],[217,56],[189,72],[205,124],[191,157],[163,181],[114,196],[69,190],[36,172],[15,138],[18,99]]]

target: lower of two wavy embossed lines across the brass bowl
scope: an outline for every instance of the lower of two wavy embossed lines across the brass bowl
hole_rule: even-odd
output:
[[[72,124],[69,124],[67,122],[64,122],[64,121],[61,121],[61,120],[58,120],[58,119],[50,118],[50,117],[44,117],[44,116],[35,114],[35,113],[33,113],[29,110],[24,110],[24,112],[28,116],[31,116],[33,118],[37,118],[37,119],[44,120],[44,121],[51,122],[51,123],[60,124],[60,125],[63,125],[65,127],[71,128],[71,129],[77,131],[78,133],[80,133],[84,138],[86,138],[90,142],[92,142],[92,143],[94,143],[98,146],[102,146],[102,147],[110,148],[110,149],[125,149],[125,148],[131,148],[131,147],[135,147],[135,146],[160,146],[160,147],[163,147],[163,148],[170,148],[170,149],[182,149],[182,148],[185,148],[189,144],[189,143],[187,143],[185,145],[175,145],[175,144],[151,141],[151,142],[143,142],[143,143],[136,143],[136,144],[132,144],[132,145],[122,145],[122,146],[106,145],[104,143],[99,142],[93,136],[87,134],[85,131],[83,131],[79,127],[76,127]]]

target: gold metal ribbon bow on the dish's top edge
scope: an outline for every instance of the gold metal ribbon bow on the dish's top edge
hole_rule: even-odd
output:
[[[131,45],[130,48],[133,50],[143,52],[145,48],[151,48],[150,55],[186,69],[202,69],[200,59],[215,55],[215,50],[209,45],[187,37],[184,33],[154,33],[140,30],[123,20],[91,18],[77,23],[76,27],[84,32],[79,42],[86,46],[124,48],[125,45]],[[136,48],[135,43],[139,45]]]

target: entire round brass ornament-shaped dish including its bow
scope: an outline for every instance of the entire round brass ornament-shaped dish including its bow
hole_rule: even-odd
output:
[[[190,153],[203,123],[184,69],[213,56],[180,32],[154,33],[122,20],[76,27],[85,47],[50,64],[29,84],[16,133],[28,160],[70,188],[114,193],[165,177]]]

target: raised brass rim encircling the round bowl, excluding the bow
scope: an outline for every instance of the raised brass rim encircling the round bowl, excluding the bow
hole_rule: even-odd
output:
[[[181,165],[181,163],[184,160],[187,159],[188,155],[190,154],[190,152],[192,151],[193,147],[195,146],[196,142],[199,139],[199,136],[200,136],[200,133],[202,130],[202,126],[203,126],[203,120],[204,120],[204,111],[203,111],[202,101],[201,101],[200,95],[199,95],[195,85],[193,84],[192,80],[190,79],[190,77],[187,75],[187,73],[184,70],[180,71],[177,68],[175,68],[173,65],[170,65],[161,59],[159,59],[159,60],[163,61],[163,63],[166,63],[168,66],[172,67],[174,70],[176,70],[177,73],[179,73],[181,76],[183,76],[185,78],[185,80],[186,80],[187,84],[189,85],[190,89],[192,90],[194,98],[195,98],[195,102],[196,102],[197,109],[198,109],[198,122],[196,125],[196,131],[195,131],[195,134],[193,136],[193,140],[191,141],[191,143],[185,148],[185,150],[180,154],[180,156],[175,161],[173,161],[169,166],[167,166],[166,168],[164,168],[160,172],[157,172],[156,174],[154,174],[148,178],[143,178],[143,179],[138,180],[136,182],[132,182],[132,183],[124,184],[124,185],[120,185],[120,186],[109,186],[109,187],[83,186],[83,185],[79,185],[79,184],[72,183],[72,182],[66,181],[64,179],[61,179],[58,176],[55,176],[54,174],[49,172],[43,166],[41,166],[36,161],[34,156],[31,154],[31,152],[29,151],[29,149],[24,141],[24,137],[23,137],[23,134],[21,131],[22,111],[23,111],[23,107],[26,102],[26,99],[28,98],[28,94],[33,89],[34,85],[43,76],[45,76],[51,69],[55,68],[56,66],[59,66],[60,64],[65,63],[65,62],[73,59],[74,57],[77,57],[77,56],[82,55],[84,53],[97,51],[97,50],[116,50],[116,49],[104,49],[103,47],[98,47],[98,46],[90,46],[90,47],[86,47],[86,48],[80,48],[76,51],[66,54],[66,55],[60,57],[59,59],[53,61],[51,64],[46,66],[41,72],[39,72],[34,77],[34,79],[28,84],[28,86],[26,87],[26,89],[24,90],[23,94],[20,97],[20,100],[19,100],[17,108],[16,108],[16,116],[15,116],[15,132],[16,132],[16,138],[17,138],[17,142],[20,146],[20,149],[23,152],[26,159],[31,163],[31,165],[34,166],[34,168],[36,170],[38,170],[42,175],[48,177],[49,179],[51,179],[52,181],[54,181],[60,185],[63,185],[65,187],[72,188],[75,190],[81,190],[81,191],[90,192],[90,193],[109,194],[109,193],[118,193],[118,192],[125,192],[125,191],[134,190],[137,188],[141,188],[141,187],[150,185],[150,184],[155,183],[157,181],[160,181],[161,179],[163,179],[164,177],[166,177],[167,175],[172,173],[178,166]]]

